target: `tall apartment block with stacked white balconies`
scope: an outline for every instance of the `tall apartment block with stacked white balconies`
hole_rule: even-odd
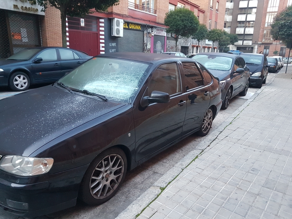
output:
[[[238,36],[232,49],[257,52],[264,3],[265,0],[226,1],[224,30]]]

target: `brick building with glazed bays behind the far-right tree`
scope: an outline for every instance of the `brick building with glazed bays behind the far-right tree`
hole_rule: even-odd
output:
[[[270,29],[274,17],[291,6],[292,0],[265,0],[263,5],[263,17],[260,25],[260,33],[258,37],[258,50],[265,55],[273,56],[274,51],[278,51],[278,55],[288,57],[289,49],[281,41],[272,39]]]

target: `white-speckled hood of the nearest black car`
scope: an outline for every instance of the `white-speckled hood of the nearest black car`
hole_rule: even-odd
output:
[[[52,85],[0,100],[0,155],[29,156],[54,138],[123,105]]]

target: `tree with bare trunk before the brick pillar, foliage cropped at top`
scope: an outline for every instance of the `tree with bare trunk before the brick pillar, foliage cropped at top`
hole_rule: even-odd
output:
[[[35,0],[45,11],[48,6],[55,7],[61,12],[62,46],[67,47],[66,17],[82,17],[90,14],[90,9],[107,11],[110,6],[119,4],[119,0]]]

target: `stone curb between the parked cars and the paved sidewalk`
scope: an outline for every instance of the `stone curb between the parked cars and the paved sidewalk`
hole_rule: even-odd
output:
[[[277,75],[275,76],[277,77]],[[267,83],[269,86],[275,79]],[[241,105],[235,112],[231,114],[223,123],[221,123],[218,128],[216,128],[212,133],[205,136],[204,140],[202,140],[196,149],[190,151],[183,159],[178,161],[170,170],[168,170],[161,178],[159,178],[149,189],[147,189],[144,193],[140,195],[135,201],[132,202],[124,211],[122,211],[116,219],[134,219],[136,215],[142,213],[145,208],[154,201],[159,194],[161,193],[161,188],[166,187],[171,181],[173,181],[186,167],[189,165],[195,157],[200,156],[204,150],[211,145],[211,143],[218,137],[218,135],[230,125],[230,123],[242,112],[250,102],[252,102],[263,90],[267,87],[265,86],[263,89],[258,90],[254,93],[251,98],[246,100],[246,102]]]

